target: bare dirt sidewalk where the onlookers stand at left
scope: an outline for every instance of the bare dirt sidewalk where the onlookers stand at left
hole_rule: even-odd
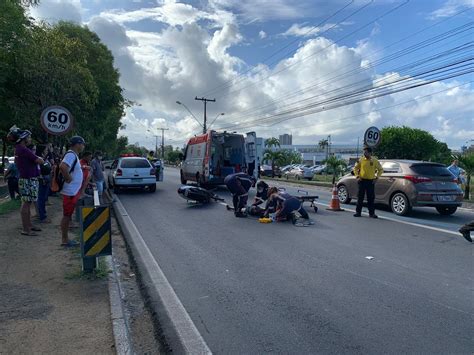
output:
[[[50,202],[37,237],[20,235],[18,210],[0,215],[0,354],[114,354],[106,271],[81,275],[79,248],[60,246],[61,200]]]

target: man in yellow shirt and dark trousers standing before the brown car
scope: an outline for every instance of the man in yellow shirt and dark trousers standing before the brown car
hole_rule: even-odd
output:
[[[362,204],[364,196],[367,194],[367,207],[369,216],[378,218],[375,214],[375,183],[382,175],[383,169],[379,161],[372,157],[372,148],[364,147],[364,156],[360,158],[354,167],[354,175],[359,184],[359,193],[357,195],[357,207],[354,217],[360,217],[362,213]]]

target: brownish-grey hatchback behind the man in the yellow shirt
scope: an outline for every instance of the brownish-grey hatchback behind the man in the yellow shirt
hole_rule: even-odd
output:
[[[415,160],[380,160],[383,174],[375,184],[375,202],[390,206],[393,213],[407,215],[413,207],[435,207],[451,215],[462,205],[463,193],[443,164]],[[341,203],[357,198],[353,173],[337,183]]]

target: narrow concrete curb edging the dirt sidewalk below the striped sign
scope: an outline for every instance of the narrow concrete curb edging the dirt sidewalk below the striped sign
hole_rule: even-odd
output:
[[[115,351],[118,355],[131,355],[134,354],[134,352],[130,341],[129,327],[122,307],[123,291],[120,286],[120,277],[117,268],[115,267],[113,257],[108,256],[105,260],[107,267],[112,270],[109,274],[108,285]]]

